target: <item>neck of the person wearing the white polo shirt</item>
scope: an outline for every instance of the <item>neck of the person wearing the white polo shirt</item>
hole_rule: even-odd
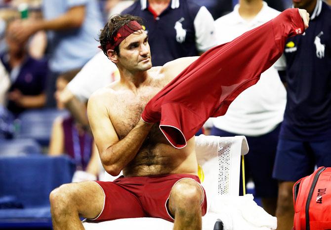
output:
[[[262,9],[262,0],[240,0],[239,15],[247,21],[252,20]]]

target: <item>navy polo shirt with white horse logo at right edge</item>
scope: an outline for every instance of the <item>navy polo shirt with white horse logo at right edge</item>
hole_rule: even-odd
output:
[[[280,137],[331,137],[331,9],[317,1],[303,36],[287,40],[287,105]]]

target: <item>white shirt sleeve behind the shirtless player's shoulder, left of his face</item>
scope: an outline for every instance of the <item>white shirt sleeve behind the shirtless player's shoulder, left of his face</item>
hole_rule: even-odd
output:
[[[120,79],[120,73],[116,65],[100,51],[83,66],[67,88],[81,101],[86,102],[94,91],[117,79]]]

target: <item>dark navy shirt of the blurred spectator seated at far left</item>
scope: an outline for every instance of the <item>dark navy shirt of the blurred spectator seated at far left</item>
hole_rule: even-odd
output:
[[[10,74],[12,69],[9,64],[9,57],[6,53],[0,55],[3,66]],[[39,95],[45,89],[45,79],[47,77],[48,67],[46,60],[36,60],[30,56],[27,56],[22,63],[17,77],[11,82],[9,92],[18,89],[23,95]],[[8,101],[8,110],[14,114],[19,114],[25,109],[16,105],[12,101]]]

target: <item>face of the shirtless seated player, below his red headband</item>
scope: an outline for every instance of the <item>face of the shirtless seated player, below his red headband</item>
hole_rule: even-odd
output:
[[[137,31],[120,43],[119,64],[129,71],[146,71],[152,68],[151,51],[145,31]]]

